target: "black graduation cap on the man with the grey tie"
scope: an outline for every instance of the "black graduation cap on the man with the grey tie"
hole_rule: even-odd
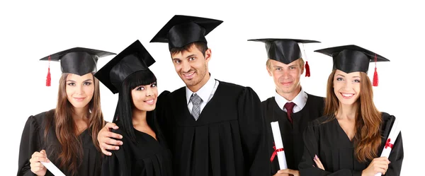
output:
[[[169,49],[184,47],[192,42],[207,42],[208,35],[222,20],[176,15],[159,30],[150,42],[168,42]]]

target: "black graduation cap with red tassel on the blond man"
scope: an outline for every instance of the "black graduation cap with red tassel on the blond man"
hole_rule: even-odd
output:
[[[315,40],[279,38],[251,39],[248,41],[266,43],[266,52],[268,59],[280,61],[283,64],[290,64],[291,62],[302,57],[301,49],[298,43],[304,44],[319,42]],[[308,61],[305,61],[305,76],[310,76],[310,66],[308,65]]]

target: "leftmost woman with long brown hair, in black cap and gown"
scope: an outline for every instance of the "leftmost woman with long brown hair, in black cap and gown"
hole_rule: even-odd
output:
[[[76,47],[40,60],[60,61],[57,107],[28,117],[21,137],[19,175],[53,175],[40,162],[52,162],[65,175],[100,175],[102,153],[97,133],[103,128],[99,57],[114,53]],[[50,86],[50,68],[47,75]]]

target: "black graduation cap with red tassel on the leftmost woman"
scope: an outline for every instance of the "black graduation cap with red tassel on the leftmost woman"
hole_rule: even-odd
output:
[[[62,73],[77,74],[83,76],[91,72],[96,72],[96,64],[98,58],[113,55],[113,52],[106,52],[97,49],[89,49],[84,47],[74,47],[71,49],[57,52],[47,57],[43,57],[40,61],[60,61]],[[47,71],[46,86],[50,86],[50,63]]]

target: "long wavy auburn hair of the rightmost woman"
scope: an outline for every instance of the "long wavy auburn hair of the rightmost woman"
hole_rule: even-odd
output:
[[[336,112],[340,107],[340,102],[334,93],[334,76],[336,69],[329,75],[327,81],[327,96],[324,104],[324,115],[330,117],[327,121],[335,119]],[[378,147],[381,144],[380,124],[382,123],[381,112],[373,103],[373,88],[367,74],[360,72],[361,91],[356,103],[356,134],[354,136],[354,146],[357,160],[367,162],[378,156]]]

